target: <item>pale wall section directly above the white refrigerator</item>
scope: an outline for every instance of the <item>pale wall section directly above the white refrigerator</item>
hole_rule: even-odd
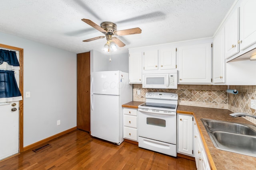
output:
[[[109,58],[111,57],[111,62]],[[91,72],[116,71],[129,72],[129,53],[104,54],[95,50],[90,51]]]

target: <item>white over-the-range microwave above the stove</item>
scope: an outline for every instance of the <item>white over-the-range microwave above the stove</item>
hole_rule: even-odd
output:
[[[142,88],[177,89],[177,70],[171,73],[142,74]]]

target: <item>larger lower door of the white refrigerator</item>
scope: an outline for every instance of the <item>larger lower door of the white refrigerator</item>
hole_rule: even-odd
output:
[[[120,96],[91,94],[91,135],[120,142]]]

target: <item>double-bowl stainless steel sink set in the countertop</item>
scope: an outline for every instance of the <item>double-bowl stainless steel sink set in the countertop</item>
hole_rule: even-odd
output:
[[[216,148],[256,157],[256,126],[211,119],[201,121]]]

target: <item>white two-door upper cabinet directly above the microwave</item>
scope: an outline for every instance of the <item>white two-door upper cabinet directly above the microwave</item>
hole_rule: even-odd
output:
[[[176,48],[169,45],[146,47],[142,54],[142,73],[163,73],[176,69]]]

